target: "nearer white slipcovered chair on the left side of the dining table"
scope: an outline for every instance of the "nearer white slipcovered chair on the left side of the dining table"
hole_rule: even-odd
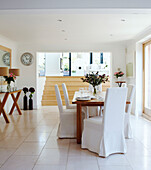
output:
[[[62,100],[58,85],[55,85],[56,98],[60,113],[60,124],[58,128],[59,138],[75,138],[77,116],[76,109],[63,109]]]

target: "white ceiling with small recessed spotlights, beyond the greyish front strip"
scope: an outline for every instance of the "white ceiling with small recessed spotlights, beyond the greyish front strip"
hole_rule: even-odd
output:
[[[58,19],[62,22],[58,22]],[[121,21],[122,19],[125,22]],[[0,12],[0,34],[19,43],[125,41],[133,39],[150,25],[151,14]]]

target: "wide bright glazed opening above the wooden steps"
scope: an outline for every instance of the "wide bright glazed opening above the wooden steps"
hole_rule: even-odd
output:
[[[40,76],[84,76],[99,71],[109,75],[110,55],[107,52],[38,53],[38,73]]]

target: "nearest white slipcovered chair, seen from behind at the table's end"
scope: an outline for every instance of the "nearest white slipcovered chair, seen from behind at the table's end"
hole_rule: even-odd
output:
[[[106,92],[104,115],[84,120],[82,148],[107,157],[126,153],[124,113],[127,88],[109,88]]]

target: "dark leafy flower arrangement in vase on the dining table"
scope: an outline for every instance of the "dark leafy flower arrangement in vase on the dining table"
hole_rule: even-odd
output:
[[[108,81],[109,76],[106,76],[105,74],[99,75],[99,72],[96,73],[92,72],[90,74],[86,74],[85,78],[81,78],[83,82],[89,83],[94,88],[94,95],[96,94],[96,86],[100,85],[101,83],[105,83]]]

